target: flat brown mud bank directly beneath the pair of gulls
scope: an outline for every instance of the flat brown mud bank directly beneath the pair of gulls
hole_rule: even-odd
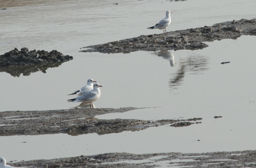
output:
[[[199,124],[202,118],[146,121],[136,119],[94,118],[97,115],[125,112],[137,108],[120,109],[70,109],[49,111],[0,112],[0,136],[59,134],[110,134],[123,131],[139,131],[152,126],[170,124],[180,127]]]

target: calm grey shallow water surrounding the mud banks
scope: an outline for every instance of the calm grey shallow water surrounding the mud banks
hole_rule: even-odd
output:
[[[15,47],[19,50],[27,47],[58,50],[74,59],[47,69],[46,73],[20,77],[0,73],[0,111],[77,106],[79,103],[67,103],[66,100],[75,97],[67,95],[92,78],[103,86],[100,99],[94,103],[96,108],[151,107],[97,118],[202,117],[203,120],[201,124],[187,127],[159,126],[118,134],[0,137],[6,144],[0,155],[7,161],[108,152],[200,153],[256,149],[255,36],[207,42],[209,47],[193,51],[78,52],[84,46],[162,33],[162,30],[146,28],[163,19],[166,10],[173,12],[167,31],[252,19],[256,16],[256,1],[114,2],[118,5],[112,1],[82,0],[22,2],[0,3],[0,8],[7,8],[0,10],[0,22],[4,25],[0,29],[0,54]],[[227,61],[230,63],[220,64]],[[49,153],[53,147],[56,150]],[[26,150],[31,152],[24,155]]]

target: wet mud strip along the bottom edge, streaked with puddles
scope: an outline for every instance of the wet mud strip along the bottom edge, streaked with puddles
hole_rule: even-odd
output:
[[[256,167],[256,151],[212,153],[156,153],[134,155],[107,153],[95,156],[79,156],[51,160],[32,160],[10,163],[12,166],[31,167]]]

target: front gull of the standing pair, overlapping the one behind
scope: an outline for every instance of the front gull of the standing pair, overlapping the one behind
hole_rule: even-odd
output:
[[[90,103],[90,108],[91,108],[91,103],[95,102],[100,98],[100,86],[98,83],[93,84],[93,89],[89,92],[84,93],[83,95],[80,95],[76,97],[75,99],[69,99],[69,102],[83,102],[83,103]],[[92,106],[93,108],[93,106]]]

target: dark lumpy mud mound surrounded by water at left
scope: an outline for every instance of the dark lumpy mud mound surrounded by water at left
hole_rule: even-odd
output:
[[[46,73],[48,68],[58,67],[63,62],[72,60],[73,57],[57,50],[50,52],[44,50],[31,50],[22,48],[20,51],[15,48],[0,56],[0,72],[10,73],[14,77],[20,74],[28,76],[31,73],[42,71]]]

